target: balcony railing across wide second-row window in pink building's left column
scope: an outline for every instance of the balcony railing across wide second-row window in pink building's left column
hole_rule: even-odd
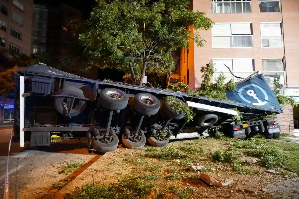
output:
[[[212,38],[213,48],[252,48],[252,35],[216,36]]]

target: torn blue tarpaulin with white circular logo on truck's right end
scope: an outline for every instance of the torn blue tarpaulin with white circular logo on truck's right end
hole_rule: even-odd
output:
[[[240,102],[266,109],[281,109],[277,98],[269,87],[263,74],[259,74],[237,84],[235,91],[228,91],[226,97]]]

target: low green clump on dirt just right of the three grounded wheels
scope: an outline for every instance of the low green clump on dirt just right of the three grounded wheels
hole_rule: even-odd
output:
[[[181,149],[173,146],[164,147],[156,151],[153,151],[152,149],[147,150],[146,156],[150,158],[158,158],[160,160],[185,159],[188,157],[188,155]]]

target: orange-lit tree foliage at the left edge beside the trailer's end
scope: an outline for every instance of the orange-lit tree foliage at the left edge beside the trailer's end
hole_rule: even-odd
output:
[[[4,72],[0,72],[0,96],[2,98],[1,109],[1,125],[4,121],[4,105],[7,102],[7,95],[13,92],[15,89],[15,79],[13,78],[13,72],[19,70],[21,67],[15,66]]]

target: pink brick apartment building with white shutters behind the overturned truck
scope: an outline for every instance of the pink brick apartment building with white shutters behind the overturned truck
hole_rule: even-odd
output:
[[[212,59],[217,71],[214,79],[223,72],[227,81],[238,81],[224,64],[241,77],[263,71],[270,87],[279,75],[286,95],[294,95],[299,102],[298,0],[191,0],[190,9],[204,12],[215,24],[200,32],[207,41],[204,47],[191,42],[188,50],[177,53],[179,64],[172,76],[191,89],[199,88],[200,68]],[[292,112],[298,120],[298,109],[288,107],[285,112],[291,119],[283,123],[293,122]]]

